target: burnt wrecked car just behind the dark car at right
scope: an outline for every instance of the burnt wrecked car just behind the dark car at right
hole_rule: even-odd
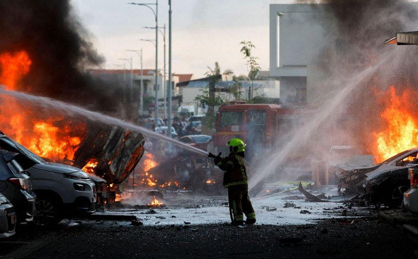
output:
[[[339,193],[362,193],[364,180],[379,172],[395,170],[411,163],[418,163],[418,148],[405,150],[378,164],[360,168],[344,167],[338,182]]]

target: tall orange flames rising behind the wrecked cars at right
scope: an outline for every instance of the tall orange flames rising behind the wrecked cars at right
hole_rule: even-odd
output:
[[[402,96],[396,95],[391,86],[386,93],[386,109],[381,117],[386,121],[387,128],[381,132],[373,132],[377,142],[376,161],[383,161],[404,150],[418,146],[418,122],[415,122],[414,110],[409,109],[408,97],[412,93],[405,91]]]

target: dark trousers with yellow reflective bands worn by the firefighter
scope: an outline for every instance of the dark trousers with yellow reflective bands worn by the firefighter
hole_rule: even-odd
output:
[[[232,210],[235,222],[243,222],[244,215],[247,220],[255,220],[255,212],[250,197],[248,197],[248,184],[232,185],[228,187],[229,209]]]

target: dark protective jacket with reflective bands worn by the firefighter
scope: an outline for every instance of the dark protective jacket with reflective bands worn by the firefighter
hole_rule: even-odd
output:
[[[248,184],[248,176],[242,157],[236,153],[229,153],[223,159],[215,159],[216,165],[225,171],[223,174],[223,187]]]

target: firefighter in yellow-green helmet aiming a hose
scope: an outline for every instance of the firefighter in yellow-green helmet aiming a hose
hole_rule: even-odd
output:
[[[226,143],[229,146],[227,157],[217,156],[213,162],[224,172],[223,186],[228,188],[229,209],[232,211],[232,225],[255,223],[255,212],[248,197],[248,176],[243,161],[245,144],[239,138],[232,138]],[[232,218],[232,217],[231,217]]]

